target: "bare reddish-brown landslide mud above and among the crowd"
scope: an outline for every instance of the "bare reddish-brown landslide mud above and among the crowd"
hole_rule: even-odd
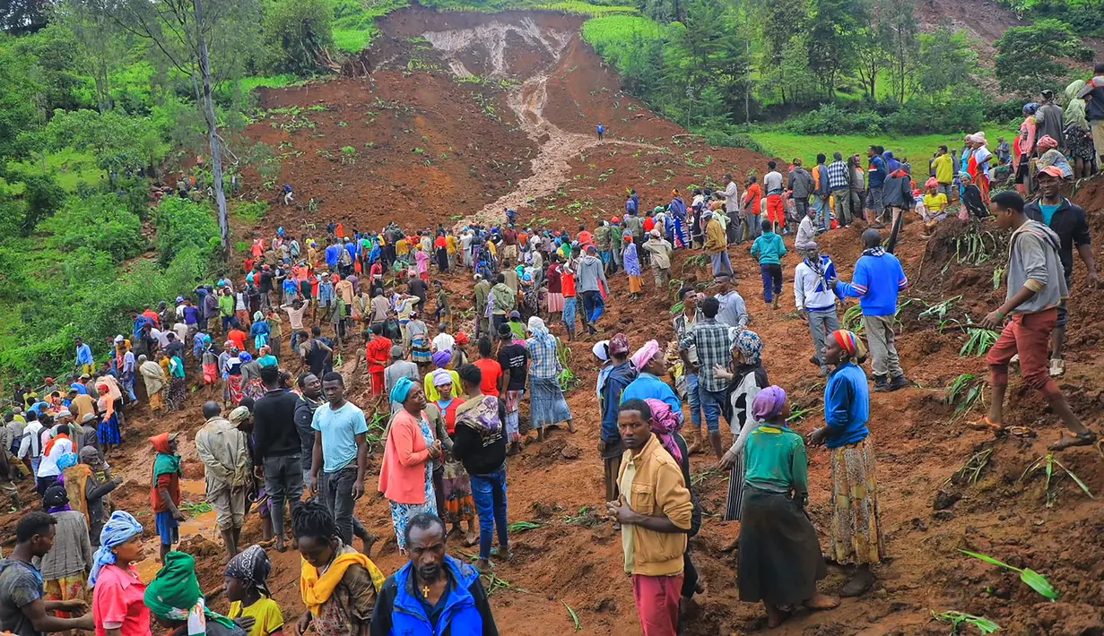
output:
[[[293,183],[297,196],[294,208],[274,207],[265,231],[277,225],[295,230],[304,222],[321,227],[330,219],[343,220],[347,228],[378,228],[396,220],[413,229],[498,214],[500,197],[530,202],[520,208],[523,224],[574,230],[578,223],[593,227],[596,217],[619,215],[628,187],[640,192],[643,204],[650,207],[669,201],[672,187],[684,191],[691,184],[718,181],[730,171],[740,176],[752,168],[764,171],[765,158],[679,137],[684,131],[622,94],[617,78],[578,40],[578,24],[574,18],[540,13],[404,10],[383,23],[388,36],[371,52],[373,78],[265,91],[266,108],[287,110],[272,112],[250,134],[272,143],[290,142],[282,149],[288,154],[277,183]],[[458,82],[465,74],[471,77]],[[312,106],[323,109],[311,110]],[[611,130],[601,145],[591,139],[599,120]],[[374,145],[365,149],[369,142]],[[357,149],[354,163],[348,158],[341,163],[340,149],[347,145]],[[442,154],[447,159],[440,159]],[[533,181],[535,175],[542,179]],[[1091,203],[1097,236],[1104,231],[1102,184],[1097,180],[1080,193],[1086,205]],[[275,198],[273,192],[256,188],[250,194]],[[310,198],[320,202],[317,214],[307,212]],[[931,621],[932,610],[984,614],[1012,635],[1104,633],[1104,545],[1100,539],[1104,505],[1084,495],[1072,478],[1060,477],[1061,471],[1049,492],[1042,472],[1025,475],[1047,454],[1045,446],[1059,430],[1057,418],[1044,411],[1037,396],[1022,389],[1017,376],[1009,391],[1008,419],[1037,427],[1038,439],[994,441],[964,423],[976,412],[955,418],[954,407],[942,401],[944,388],[955,377],[972,373],[984,378],[986,368],[980,358],[959,357],[965,341],[960,328],[948,323],[941,331],[938,321],[920,316],[922,309],[962,294],[947,317],[965,322],[969,314],[976,321],[1001,295],[992,285],[994,263],[1002,259],[1000,248],[990,244],[994,256],[980,266],[960,265],[955,240],[964,231],[947,223],[935,239],[925,242],[919,224],[907,224],[898,249],[914,282],[905,297],[919,299],[901,312],[899,341],[903,364],[916,387],[872,399],[870,425],[890,557],[878,568],[879,583],[836,611],[799,613],[775,634],[947,634],[945,624]],[[849,279],[860,254],[858,228],[829,233],[820,242],[838,262],[841,277]],[[774,311],[762,301],[758,268],[745,250],[746,246],[731,251],[740,291],[753,316],[751,328],[767,343],[764,359],[771,380],[785,387],[796,406],[810,409],[806,420],[795,424],[807,432],[822,422],[824,386],[816,367],[806,362],[810,338],[793,311],[792,272],[797,258],[786,257],[784,309]],[[673,278],[708,289],[708,272],[690,256],[677,256]],[[1098,338],[1104,325],[1096,308],[1104,292],[1085,289],[1083,267],[1076,267],[1069,370],[1061,386],[1074,409],[1098,430],[1104,411]],[[470,278],[463,273],[444,280],[455,305],[461,312],[469,310]],[[612,280],[613,295],[602,319],[605,337],[624,331],[634,346],[647,338],[666,343],[671,337],[667,290],[655,290],[650,277],[645,285],[645,300],[628,303],[624,276]],[[553,328],[563,334],[559,326]],[[575,343],[570,355],[571,367],[582,380],[569,394],[578,432],[558,432],[542,444],[529,444],[509,462],[510,521],[532,520],[541,527],[513,535],[516,558],[496,570],[499,584],[491,604],[503,634],[573,633],[567,606],[577,613],[583,634],[639,633],[631,586],[622,571],[619,537],[594,513],[603,502],[593,390],[596,368],[590,345]],[[344,352],[346,370],[351,370],[359,355],[352,348]],[[290,366],[298,370],[296,363]],[[358,403],[368,405],[362,377],[352,378],[351,390]],[[113,459],[128,483],[115,496],[115,504],[139,514],[150,528],[150,451],[145,438],[161,430],[184,433],[185,468],[194,479],[189,482],[188,498],[200,500],[202,470],[192,440],[202,423],[202,394],[193,395],[184,413],[160,420],[151,420],[144,407],[128,413],[127,443]],[[978,453],[987,459],[976,479],[956,477]],[[981,459],[975,461],[980,464]],[[1097,451],[1075,449],[1060,460],[1094,495],[1104,493],[1104,460]],[[392,572],[403,559],[388,505],[375,493],[378,465],[379,457],[373,455],[369,494],[358,504],[357,515],[381,537],[373,556],[385,572]],[[705,513],[702,531],[693,541],[694,561],[707,592],[699,596],[700,613],[687,633],[763,633],[762,607],[739,602],[734,557],[721,552],[736,527],[719,520],[728,484],[726,475],[714,466],[709,457],[693,457],[696,487]],[[824,450],[810,451],[810,483],[809,511],[821,539],[827,540],[830,482]],[[0,526],[10,529],[13,522],[8,517]],[[206,590],[221,584],[217,539],[211,526],[208,517],[199,515],[184,529],[183,543],[184,549],[199,553]],[[11,536],[6,533],[9,543]],[[251,518],[244,540],[258,539],[257,521]],[[150,553],[156,551],[153,542]],[[1045,602],[1013,573],[968,559],[959,549],[1041,572],[1062,597],[1059,603]],[[452,545],[456,556],[471,551]],[[297,593],[299,559],[295,553],[273,552],[272,557],[269,586],[293,621],[302,611]],[[829,572],[821,586],[838,592],[847,571],[831,568]],[[215,608],[225,608],[225,603],[216,602]]]

